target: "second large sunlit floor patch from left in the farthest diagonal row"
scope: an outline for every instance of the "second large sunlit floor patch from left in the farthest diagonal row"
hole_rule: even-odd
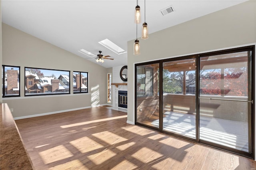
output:
[[[70,141],[74,147],[76,147],[81,153],[90,152],[102,148],[103,146],[88,137],[82,137],[73,141]]]

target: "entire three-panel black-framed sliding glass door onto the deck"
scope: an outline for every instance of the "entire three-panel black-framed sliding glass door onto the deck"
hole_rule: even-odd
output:
[[[136,125],[253,158],[254,49],[136,64]]]

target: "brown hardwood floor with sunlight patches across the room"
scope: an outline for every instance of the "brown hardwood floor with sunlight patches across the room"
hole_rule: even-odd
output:
[[[36,170],[253,170],[249,158],[126,123],[96,107],[17,120]]]

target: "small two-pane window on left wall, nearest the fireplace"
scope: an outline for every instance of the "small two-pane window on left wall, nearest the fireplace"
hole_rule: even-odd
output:
[[[73,72],[73,93],[88,93],[88,72]]]

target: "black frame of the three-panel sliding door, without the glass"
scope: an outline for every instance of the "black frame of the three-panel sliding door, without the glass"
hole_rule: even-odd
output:
[[[255,99],[255,63],[254,63],[254,57],[255,57],[255,45],[250,45],[250,46],[245,46],[245,47],[238,47],[238,48],[232,48],[232,49],[225,49],[225,50],[219,50],[219,51],[213,51],[213,52],[207,52],[207,53],[198,53],[198,54],[194,54],[194,55],[186,55],[186,56],[182,56],[182,57],[174,57],[174,58],[169,58],[169,59],[161,59],[161,60],[156,60],[156,61],[149,61],[149,62],[144,62],[144,63],[137,63],[135,64],[135,81],[134,81],[134,87],[137,87],[137,66],[142,66],[142,65],[148,65],[148,64],[155,64],[158,63],[159,64],[159,128],[156,127],[151,127],[148,125],[144,125],[142,123],[138,123],[137,122],[137,90],[135,88],[134,90],[134,101],[135,103],[135,107],[134,107],[134,120],[135,120],[135,125],[139,125],[142,127],[146,127],[146,128],[151,128],[160,132],[164,132],[166,134],[171,134],[172,136],[176,136],[179,138],[183,138],[186,140],[190,140],[193,142],[198,142],[200,144],[204,144],[207,146],[211,146],[214,148],[218,148],[221,150],[225,150],[227,152],[232,152],[234,154],[239,154],[248,158],[252,158],[255,159],[255,104],[254,102],[252,102],[252,104],[250,104],[250,108],[248,107],[248,112],[249,110],[251,110],[251,115],[250,117],[248,117],[248,127],[249,127],[249,142],[251,142],[251,153],[248,152],[244,152],[244,151],[240,151],[240,150],[236,150],[227,146],[222,146],[219,144],[214,144],[212,142],[208,142],[205,140],[200,140],[199,138],[199,91],[200,91],[200,57],[205,57],[205,56],[209,56],[209,55],[220,55],[220,54],[226,54],[226,53],[234,53],[234,52],[240,52],[240,51],[252,51],[252,55],[250,57],[250,60],[248,60],[248,80],[250,80],[251,82],[248,81],[248,85],[251,86],[251,93],[248,94],[251,95],[251,99],[252,101],[254,101]],[[187,136],[183,136],[180,134],[176,134],[173,132],[169,132],[166,130],[163,130],[163,63],[164,62],[168,62],[168,61],[177,61],[177,60],[183,60],[183,59],[196,59],[196,138],[190,138]],[[249,89],[248,89],[249,91]],[[250,120],[249,120],[250,119]],[[250,135],[251,134],[251,135]],[[249,150],[250,150],[249,149]]]

